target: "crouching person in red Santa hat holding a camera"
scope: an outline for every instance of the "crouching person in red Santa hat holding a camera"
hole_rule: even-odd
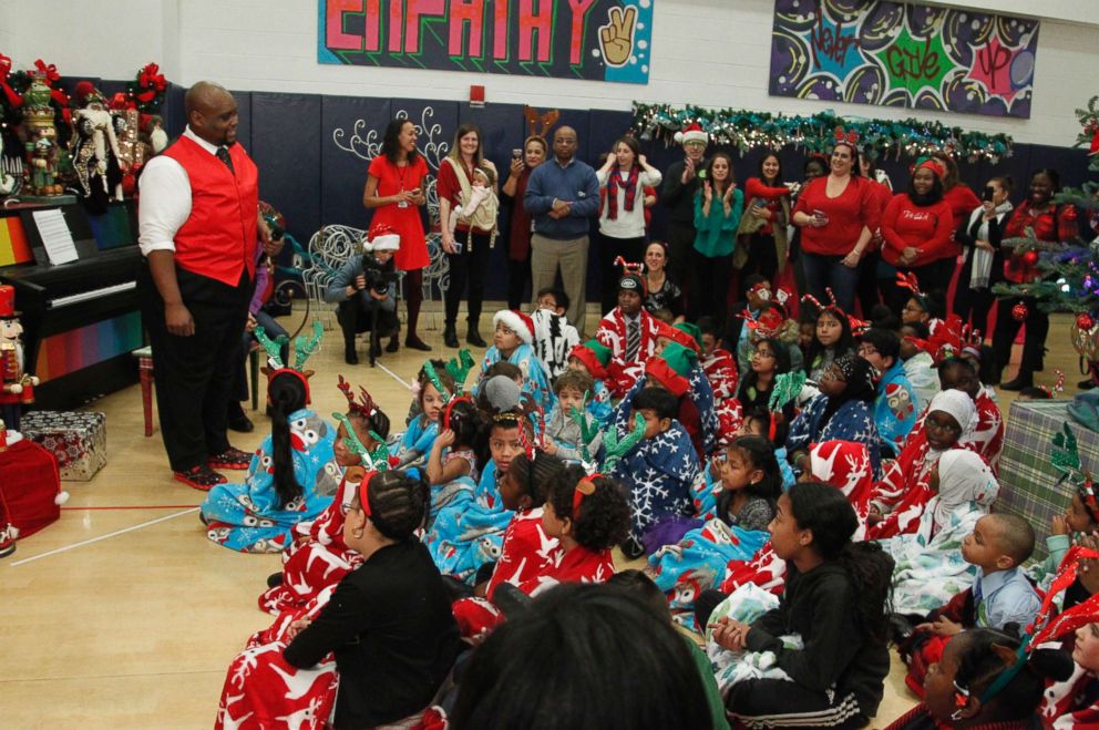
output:
[[[343,330],[343,361],[357,364],[355,336],[369,330],[370,356],[381,354],[381,338],[389,337],[389,352],[400,346],[397,336],[397,269],[394,251],[400,249],[401,237],[389,226],[374,226],[370,239],[362,245],[362,256],[352,256],[336,273],[325,290],[325,301],[339,302],[336,318]]]

